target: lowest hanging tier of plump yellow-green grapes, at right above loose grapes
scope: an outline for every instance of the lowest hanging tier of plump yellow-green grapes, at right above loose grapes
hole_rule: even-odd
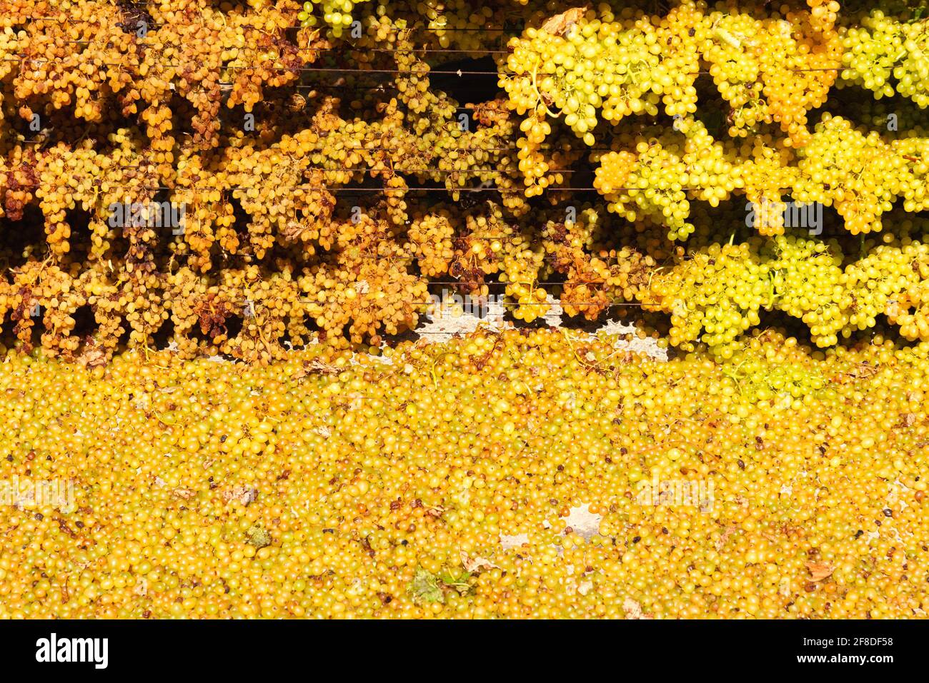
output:
[[[765,311],[802,321],[819,347],[875,328],[880,316],[907,339],[924,339],[929,240],[887,235],[859,251],[855,258],[834,239],[796,231],[766,243],[713,243],[659,269],[636,296],[671,315],[669,342],[684,350],[701,343],[723,358]]]

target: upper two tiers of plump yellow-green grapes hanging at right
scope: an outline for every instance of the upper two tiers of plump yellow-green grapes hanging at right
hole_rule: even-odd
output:
[[[896,84],[924,107],[926,19],[875,10],[860,26],[849,15],[850,25],[840,28],[838,8],[813,2],[808,11],[783,8],[783,16],[759,18],[734,5],[707,12],[684,2],[664,17],[648,17],[631,10],[614,14],[604,5],[569,10],[527,29],[511,40],[500,79],[509,106],[525,116],[518,144],[527,196],[563,182],[552,171],[561,167],[552,150],[564,148],[555,140],[569,129],[588,147],[610,148],[591,155],[600,163],[595,187],[610,210],[633,222],[648,217],[673,239],[693,232],[691,200],[714,206],[733,192],[756,203],[792,195],[835,206],[854,234],[880,229],[881,213],[900,196],[919,195],[907,211],[922,211],[924,131],[905,135],[900,146],[883,137],[896,137],[896,114],[893,125],[883,121],[884,131],[862,132],[828,110],[818,122],[809,122],[807,113],[829,107],[840,74],[844,87],[863,84],[883,95],[893,95]],[[873,32],[884,42],[867,42]],[[869,58],[887,64],[878,68]],[[702,62],[709,63],[728,108],[727,125],[713,133],[700,119],[694,87]],[[632,114],[656,117],[660,103],[674,118],[671,126],[659,123],[661,135],[628,122]],[[919,127],[914,116],[908,130]],[[765,235],[782,228],[769,222],[758,227]]]

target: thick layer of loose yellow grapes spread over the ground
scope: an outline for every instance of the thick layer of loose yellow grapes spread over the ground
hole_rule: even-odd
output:
[[[924,616],[927,354],[11,354],[0,471],[74,499],[0,509],[0,616]]]

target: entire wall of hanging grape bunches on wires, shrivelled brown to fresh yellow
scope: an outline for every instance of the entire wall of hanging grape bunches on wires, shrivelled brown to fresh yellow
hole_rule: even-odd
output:
[[[922,6],[353,5],[0,0],[5,343],[268,363],[443,289],[929,340]]]

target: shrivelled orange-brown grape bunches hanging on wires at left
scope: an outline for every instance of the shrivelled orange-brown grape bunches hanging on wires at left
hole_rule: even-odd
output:
[[[5,91],[0,215],[7,232],[42,233],[5,245],[0,312],[27,348],[36,329],[85,363],[123,343],[258,362],[317,332],[377,344],[415,326],[427,278],[472,255],[469,234],[503,216],[495,201],[510,220],[526,211],[505,108],[479,104],[463,125],[411,32],[386,18],[364,20],[352,54],[375,57],[351,78],[391,75],[353,89],[329,77],[352,70],[307,77],[322,56],[350,55],[292,34],[295,3],[6,5],[4,56],[21,63]],[[482,184],[497,192],[451,213],[409,197],[411,183],[445,187],[449,206]],[[461,225],[421,218],[442,213]]]

